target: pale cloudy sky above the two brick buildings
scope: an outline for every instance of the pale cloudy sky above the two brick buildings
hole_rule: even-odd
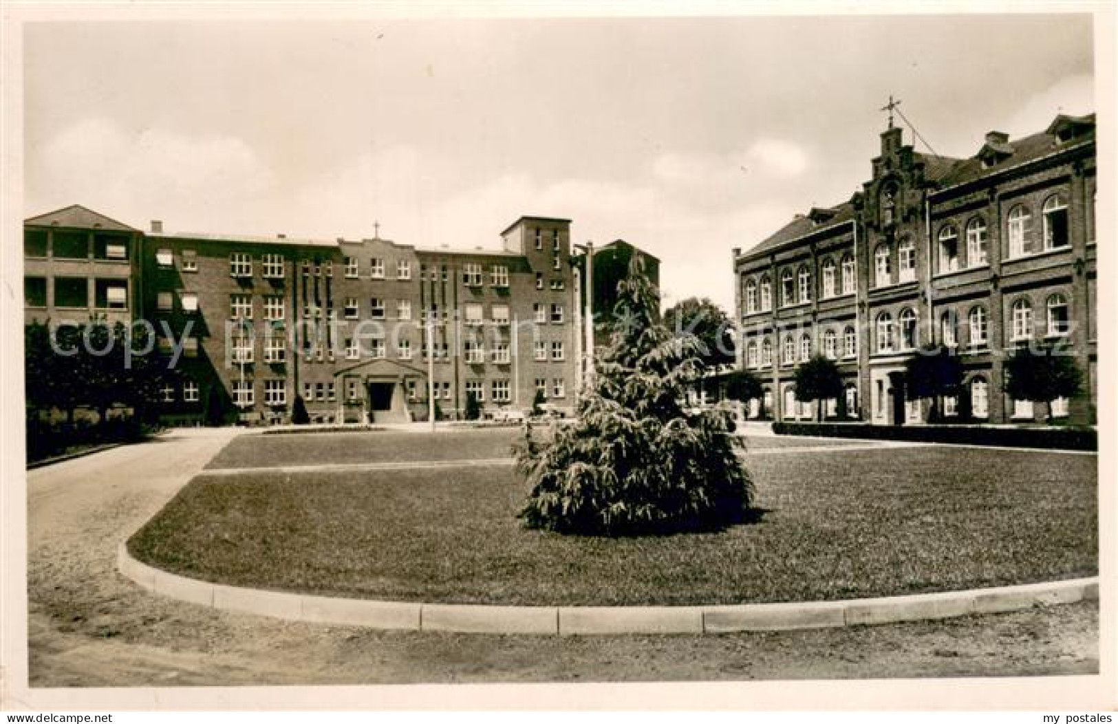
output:
[[[1091,19],[32,23],[25,211],[465,248],[566,217],[729,307],[730,249],[847,199],[890,94],[944,155],[1091,112]]]

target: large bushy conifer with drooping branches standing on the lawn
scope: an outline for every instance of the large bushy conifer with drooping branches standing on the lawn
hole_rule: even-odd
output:
[[[525,422],[517,446],[530,493],[528,527],[586,535],[718,530],[747,520],[754,486],[729,410],[681,406],[701,378],[700,343],[673,336],[635,257],[618,284],[608,347],[574,425],[550,442]]]

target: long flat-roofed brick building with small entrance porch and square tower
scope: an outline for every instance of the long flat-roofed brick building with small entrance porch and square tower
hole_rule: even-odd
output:
[[[429,371],[446,418],[462,416],[467,392],[493,411],[524,409],[539,389],[565,410],[575,393],[569,227],[523,217],[500,249],[461,251],[379,235],[168,234],[159,221],[144,234],[70,207],[25,223],[26,315],[150,322],[179,373],[163,391],[169,421],[211,407],[285,421],[297,394],[321,422],[425,419]]]

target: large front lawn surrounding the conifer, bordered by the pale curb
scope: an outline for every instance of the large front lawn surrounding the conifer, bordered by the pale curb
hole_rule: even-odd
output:
[[[362,437],[241,438],[215,467],[259,459],[262,441],[281,460],[350,460]],[[416,459],[500,457],[500,437],[454,434]],[[720,533],[528,531],[515,517],[524,483],[508,465],[246,470],[199,476],[129,546],[159,568],[233,585],[537,606],[843,599],[1098,572],[1095,456],[842,447],[752,446],[747,465],[767,512]]]

